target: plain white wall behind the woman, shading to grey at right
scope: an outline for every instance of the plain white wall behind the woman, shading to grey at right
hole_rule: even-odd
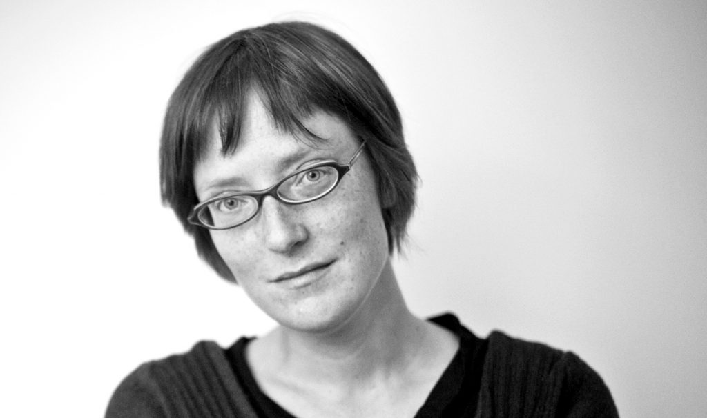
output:
[[[99,417],[139,363],[271,326],[161,207],[158,136],[206,45],[304,19],[402,111],[411,309],[578,352],[624,417],[704,416],[707,4],[529,3],[3,1],[0,415]]]

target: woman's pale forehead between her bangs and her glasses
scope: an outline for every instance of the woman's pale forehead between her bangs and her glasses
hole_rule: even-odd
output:
[[[214,184],[263,189],[301,163],[315,158],[340,160],[357,146],[349,125],[332,114],[315,111],[301,123],[316,138],[279,129],[257,95],[251,94],[233,152],[223,153],[214,123],[204,155],[194,167],[199,197]]]

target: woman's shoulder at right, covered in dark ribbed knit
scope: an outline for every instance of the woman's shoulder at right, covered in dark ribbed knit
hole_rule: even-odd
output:
[[[498,331],[487,343],[481,404],[491,410],[514,405],[537,417],[618,416],[602,378],[573,352]]]

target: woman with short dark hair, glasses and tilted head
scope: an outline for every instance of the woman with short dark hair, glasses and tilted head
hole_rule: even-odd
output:
[[[107,417],[616,416],[571,353],[407,309],[390,263],[416,170],[390,92],[308,23],[236,32],[175,90],[162,195],[279,326],[144,364]]]

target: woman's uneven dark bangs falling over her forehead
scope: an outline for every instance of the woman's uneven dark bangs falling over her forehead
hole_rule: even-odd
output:
[[[346,111],[341,102],[339,86],[327,76],[322,68],[313,65],[306,54],[286,56],[281,49],[273,48],[271,40],[259,42],[250,38],[239,51],[223,63],[206,86],[203,114],[203,129],[195,132],[193,141],[197,161],[204,155],[204,145],[209,134],[216,128],[221,139],[221,152],[233,153],[243,129],[250,95],[257,95],[272,118],[274,126],[282,132],[291,133],[299,141],[315,146],[323,138],[312,133],[303,120],[317,111],[341,117],[353,126],[355,118]],[[277,45],[277,44],[276,44]]]

